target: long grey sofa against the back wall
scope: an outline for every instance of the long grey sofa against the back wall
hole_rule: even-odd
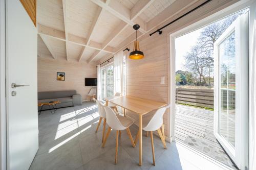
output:
[[[37,98],[38,102],[60,101],[60,104],[56,105],[57,108],[78,106],[82,104],[82,97],[80,94],[76,93],[76,90],[38,92]],[[38,107],[38,110],[40,109],[41,107]],[[49,106],[44,106],[42,108],[42,110],[47,109],[49,109]]]

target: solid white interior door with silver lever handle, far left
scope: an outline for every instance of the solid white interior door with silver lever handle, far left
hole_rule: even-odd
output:
[[[27,170],[38,150],[37,30],[16,0],[6,1],[6,99],[7,167]]]

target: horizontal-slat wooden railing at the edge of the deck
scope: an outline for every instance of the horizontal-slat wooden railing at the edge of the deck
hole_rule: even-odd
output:
[[[176,88],[176,103],[213,109],[214,90]]]

